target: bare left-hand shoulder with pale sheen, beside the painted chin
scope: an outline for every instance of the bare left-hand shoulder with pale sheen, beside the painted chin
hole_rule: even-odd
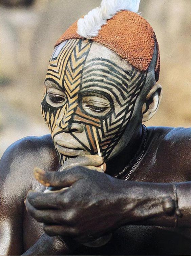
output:
[[[25,137],[10,145],[0,160],[0,183],[12,184],[16,191],[32,189],[33,169],[56,170],[58,159],[50,135]],[[11,188],[11,186],[9,186]]]

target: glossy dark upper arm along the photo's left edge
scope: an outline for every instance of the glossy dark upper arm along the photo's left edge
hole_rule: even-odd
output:
[[[0,255],[21,255],[24,250],[23,197],[27,191],[19,175],[22,171],[19,144],[10,146],[0,161]]]

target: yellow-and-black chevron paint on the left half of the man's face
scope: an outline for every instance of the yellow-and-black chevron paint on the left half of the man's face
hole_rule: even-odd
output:
[[[46,95],[42,100],[42,114],[48,123],[52,138],[64,129],[70,129],[73,114],[78,106],[83,66],[91,44],[87,40],[84,40],[83,44],[77,39],[65,41],[55,48],[50,58],[45,81],[53,81],[66,95],[65,104],[59,108],[47,105]]]

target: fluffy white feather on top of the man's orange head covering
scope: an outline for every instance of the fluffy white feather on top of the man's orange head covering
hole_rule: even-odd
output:
[[[102,0],[100,7],[92,9],[78,20],[77,33],[84,38],[97,36],[101,26],[116,13],[128,10],[137,13],[140,0]]]

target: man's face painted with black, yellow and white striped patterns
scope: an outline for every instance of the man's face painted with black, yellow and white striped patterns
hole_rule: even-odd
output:
[[[145,72],[98,43],[70,39],[58,45],[41,105],[60,163],[97,154],[93,127],[105,161],[124,149],[135,128],[130,120],[145,80]],[[129,137],[124,139],[127,126]]]

